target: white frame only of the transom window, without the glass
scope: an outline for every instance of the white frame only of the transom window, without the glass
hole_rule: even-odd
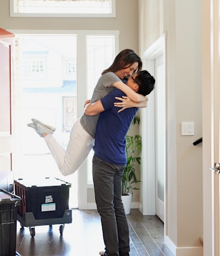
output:
[[[112,1],[112,13],[18,13],[15,12],[15,0],[10,0],[10,17],[75,17],[75,18],[115,18],[116,17],[116,0]]]

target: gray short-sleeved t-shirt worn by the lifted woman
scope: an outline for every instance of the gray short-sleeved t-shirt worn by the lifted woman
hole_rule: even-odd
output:
[[[97,100],[105,97],[108,93],[112,92],[115,88],[112,86],[113,83],[122,82],[122,80],[116,76],[113,72],[102,74],[96,84],[94,93],[92,94],[91,102],[97,102]],[[95,138],[96,124],[100,114],[94,116],[88,116],[85,113],[80,118],[80,124],[83,129],[93,138]]]

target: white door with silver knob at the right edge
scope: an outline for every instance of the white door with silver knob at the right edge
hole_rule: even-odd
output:
[[[213,8],[213,9],[212,9]],[[211,171],[212,171],[212,255],[220,255],[220,1],[211,1]],[[213,13],[212,13],[213,12]]]

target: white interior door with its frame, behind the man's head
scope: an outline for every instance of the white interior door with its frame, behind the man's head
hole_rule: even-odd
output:
[[[142,213],[164,221],[166,177],[166,34],[144,52],[146,68],[156,79],[142,109]]]

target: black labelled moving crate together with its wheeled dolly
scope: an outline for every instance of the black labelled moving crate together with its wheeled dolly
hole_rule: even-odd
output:
[[[32,227],[72,223],[69,209],[69,188],[71,184],[58,178],[45,178],[30,182],[14,180],[15,194],[21,197],[18,207],[18,221],[21,226]],[[64,226],[60,227],[63,233]],[[29,228],[35,236],[34,228]]]

